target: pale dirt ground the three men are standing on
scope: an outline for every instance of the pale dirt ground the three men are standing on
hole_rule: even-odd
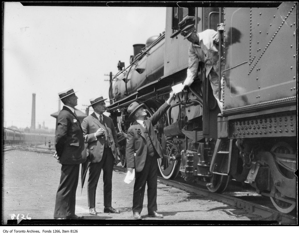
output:
[[[3,154],[2,176],[2,224],[7,224],[14,214],[18,223],[24,218],[53,219],[56,192],[60,180],[61,165],[51,154],[10,150]],[[81,177],[76,194],[76,214],[93,220],[133,220],[132,197],[134,181],[123,182],[126,173],[115,170],[112,177],[112,206],[120,214],[103,213],[103,176],[97,186],[97,216],[89,214],[87,183],[81,194]],[[88,177],[87,177],[88,179]],[[158,212],[160,220],[259,220],[260,216],[232,208],[203,196],[158,183]],[[147,215],[147,195],[141,216]],[[15,218],[16,218],[15,217]]]

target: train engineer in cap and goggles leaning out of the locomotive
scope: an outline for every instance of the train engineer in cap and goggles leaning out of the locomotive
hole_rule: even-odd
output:
[[[189,24],[188,24],[189,23]],[[189,46],[189,66],[187,69],[187,78],[183,85],[190,86],[198,74],[199,62],[205,63],[206,76],[209,77],[213,95],[217,100],[219,109],[222,112],[223,104],[219,100],[219,52],[217,49],[219,38],[218,33],[212,29],[207,29],[197,33],[194,24],[180,22],[181,35],[190,43]],[[223,31],[223,24],[217,27],[218,31]]]

